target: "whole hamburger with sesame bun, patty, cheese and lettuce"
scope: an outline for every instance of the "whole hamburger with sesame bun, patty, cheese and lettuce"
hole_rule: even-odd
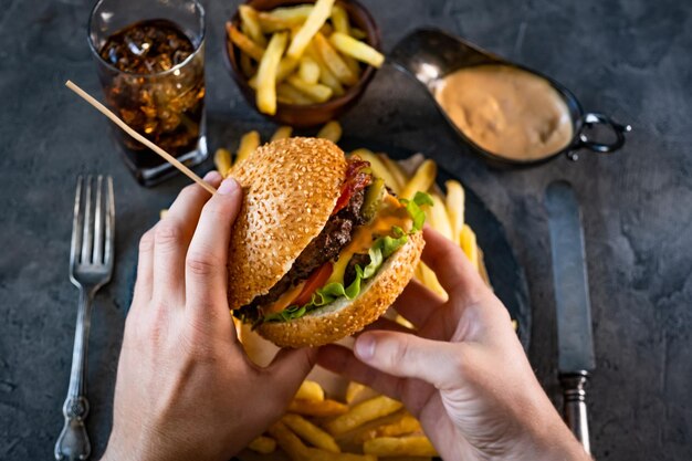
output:
[[[277,346],[319,346],[363,329],[413,276],[430,198],[395,197],[367,161],[332,142],[275,140],[231,176],[244,198],[229,305]]]

